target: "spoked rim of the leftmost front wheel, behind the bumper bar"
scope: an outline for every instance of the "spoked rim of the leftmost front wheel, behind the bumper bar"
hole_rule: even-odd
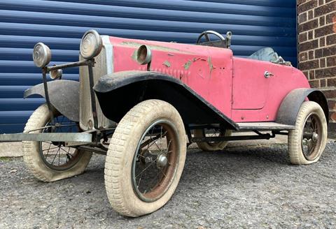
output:
[[[52,133],[76,133],[79,130],[76,122],[69,121],[62,115],[55,117],[54,123],[57,126]],[[51,127],[48,126],[50,122],[45,124],[42,133],[51,132]],[[39,142],[39,153],[45,165],[57,171],[69,170],[82,156],[78,149],[65,147],[64,142]]]

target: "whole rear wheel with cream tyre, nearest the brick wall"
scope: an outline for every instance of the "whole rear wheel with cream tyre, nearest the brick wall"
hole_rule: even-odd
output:
[[[325,114],[318,103],[302,103],[295,123],[295,129],[288,134],[290,162],[307,165],[318,161],[328,138]]]

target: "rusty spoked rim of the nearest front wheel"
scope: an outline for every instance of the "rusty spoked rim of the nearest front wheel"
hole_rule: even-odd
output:
[[[167,120],[155,121],[139,141],[132,163],[132,186],[137,196],[153,202],[165,195],[179,164],[179,138]]]

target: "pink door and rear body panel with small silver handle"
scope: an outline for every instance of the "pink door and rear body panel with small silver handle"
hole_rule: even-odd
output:
[[[233,58],[232,119],[236,122],[275,121],[281,102],[297,88],[310,88],[296,68],[239,57]],[[265,71],[272,73],[265,77]]]

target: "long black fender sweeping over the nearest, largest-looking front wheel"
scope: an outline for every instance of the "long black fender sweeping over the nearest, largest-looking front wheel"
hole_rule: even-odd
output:
[[[120,119],[137,103],[160,99],[172,104],[186,124],[220,123],[237,129],[234,121],[174,77],[158,72],[123,71],[105,75],[94,85],[104,115]]]

